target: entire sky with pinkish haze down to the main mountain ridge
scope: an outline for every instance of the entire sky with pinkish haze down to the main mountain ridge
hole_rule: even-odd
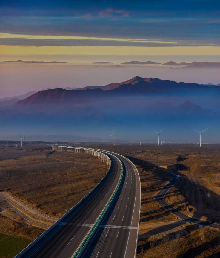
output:
[[[0,0],[0,62],[18,59],[68,64],[1,63],[0,99],[134,76],[217,84],[219,69],[121,62],[220,62],[220,1]],[[92,65],[99,61],[113,64]]]

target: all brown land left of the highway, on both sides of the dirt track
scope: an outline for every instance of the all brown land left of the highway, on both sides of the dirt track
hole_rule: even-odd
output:
[[[108,170],[92,155],[51,153],[45,145],[0,147],[0,153],[0,190],[41,213],[58,218],[92,190]],[[48,226],[26,216],[1,196],[0,233],[21,237],[18,242],[25,243],[23,237],[27,245]],[[6,237],[4,244],[7,239],[11,241]],[[3,245],[0,253],[5,251],[1,248]]]

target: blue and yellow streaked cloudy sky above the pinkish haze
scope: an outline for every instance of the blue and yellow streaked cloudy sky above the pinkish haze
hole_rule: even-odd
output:
[[[0,56],[220,55],[219,0],[0,1]]]

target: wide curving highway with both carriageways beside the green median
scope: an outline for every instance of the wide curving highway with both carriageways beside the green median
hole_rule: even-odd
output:
[[[136,257],[141,186],[133,163],[121,155],[102,151],[111,166],[99,186],[72,212],[22,255],[16,257],[71,258],[115,193],[98,227],[77,257]]]

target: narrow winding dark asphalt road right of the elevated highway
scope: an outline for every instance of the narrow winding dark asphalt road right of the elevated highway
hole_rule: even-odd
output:
[[[215,224],[215,223],[211,223],[211,222],[207,222],[207,221],[202,221],[202,220],[199,220],[199,219],[194,219],[194,218],[191,218],[189,216],[187,216],[186,214],[182,213],[181,211],[173,208],[171,205],[169,205],[165,200],[165,195],[166,193],[169,191],[169,189],[174,185],[176,184],[176,182],[179,180],[179,178],[171,173],[170,171],[167,171],[167,170],[162,170],[166,173],[168,173],[170,176],[171,176],[171,180],[170,182],[165,185],[161,190],[160,192],[155,196],[155,199],[156,201],[162,206],[164,207],[164,209],[166,210],[169,210],[170,212],[174,213],[178,218],[182,219],[183,220],[183,224],[184,222],[188,221],[188,222],[195,222],[199,225],[203,225],[203,226],[209,226],[209,227],[212,227],[212,228],[220,228],[220,225],[219,224]]]

